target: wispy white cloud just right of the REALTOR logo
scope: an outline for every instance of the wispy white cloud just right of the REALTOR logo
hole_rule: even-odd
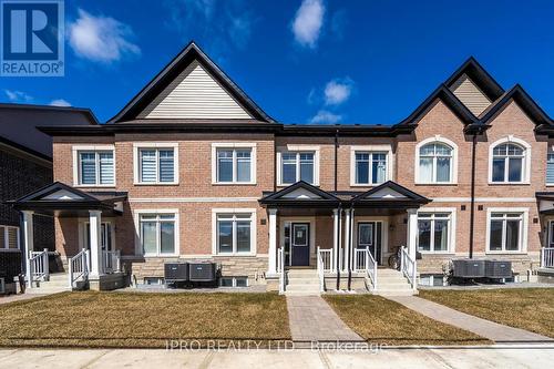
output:
[[[79,9],[79,19],[68,29],[70,45],[78,57],[111,63],[141,53],[141,49],[129,41],[132,29],[113,18],[94,17]]]

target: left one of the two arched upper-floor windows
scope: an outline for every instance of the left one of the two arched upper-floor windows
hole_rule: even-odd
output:
[[[453,182],[453,150],[443,143],[429,143],[419,150],[419,182]]]

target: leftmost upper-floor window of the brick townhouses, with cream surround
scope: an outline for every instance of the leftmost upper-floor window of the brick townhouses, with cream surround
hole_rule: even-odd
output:
[[[74,146],[73,165],[73,183],[76,186],[115,184],[113,146]]]

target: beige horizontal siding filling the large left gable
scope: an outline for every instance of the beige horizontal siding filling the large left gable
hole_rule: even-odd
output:
[[[175,78],[138,117],[252,119],[197,61]]]

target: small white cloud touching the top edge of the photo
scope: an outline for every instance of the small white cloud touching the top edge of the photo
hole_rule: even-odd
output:
[[[324,25],[325,6],[322,0],[304,0],[293,21],[295,40],[309,48],[315,48]]]

